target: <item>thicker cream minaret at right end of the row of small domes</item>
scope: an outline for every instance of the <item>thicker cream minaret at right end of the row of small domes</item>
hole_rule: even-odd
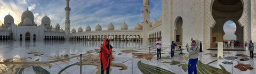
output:
[[[142,29],[143,29],[143,42],[148,42],[148,29],[150,27],[150,7],[149,0],[143,0],[142,9]]]

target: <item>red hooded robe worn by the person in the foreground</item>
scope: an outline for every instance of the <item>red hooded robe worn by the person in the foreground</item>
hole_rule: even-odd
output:
[[[110,48],[110,44],[108,43],[108,47],[110,48],[109,50],[108,50],[108,47],[106,47],[106,45],[105,45],[105,43],[106,43],[106,40],[107,40],[107,38],[106,39],[104,39],[104,41],[103,41],[103,47],[106,49],[106,50],[104,50],[103,48],[101,49],[101,46],[100,46],[100,51],[102,50],[102,53],[99,53],[99,55],[100,55],[100,60],[102,60],[102,65],[103,65],[103,70],[106,70],[107,69],[107,67],[108,67],[108,65],[109,65],[109,62],[112,60],[112,47]],[[110,53],[110,54],[109,54]],[[102,54],[102,55],[101,55]],[[110,59],[109,59],[109,57],[108,57],[108,55],[111,55],[111,57],[110,57]],[[109,61],[110,60],[110,61]],[[101,63],[101,61],[100,61],[100,63]]]

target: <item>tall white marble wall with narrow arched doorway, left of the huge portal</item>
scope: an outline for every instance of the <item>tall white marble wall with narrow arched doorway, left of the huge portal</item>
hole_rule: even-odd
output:
[[[191,43],[190,38],[203,40],[203,0],[163,0],[163,43],[175,40],[175,23],[182,18],[183,45]]]

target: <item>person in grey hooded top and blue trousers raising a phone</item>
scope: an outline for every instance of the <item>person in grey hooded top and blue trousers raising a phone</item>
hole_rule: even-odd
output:
[[[191,48],[186,45],[187,51],[188,51],[188,74],[192,74],[193,72],[196,74],[196,64],[198,61],[198,55],[199,55],[199,40],[193,40]]]

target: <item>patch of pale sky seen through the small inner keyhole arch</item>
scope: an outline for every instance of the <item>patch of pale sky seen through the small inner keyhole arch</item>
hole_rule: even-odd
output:
[[[225,32],[225,35],[223,36],[224,39],[236,40],[236,24],[233,21],[227,21],[223,26],[223,30]]]

